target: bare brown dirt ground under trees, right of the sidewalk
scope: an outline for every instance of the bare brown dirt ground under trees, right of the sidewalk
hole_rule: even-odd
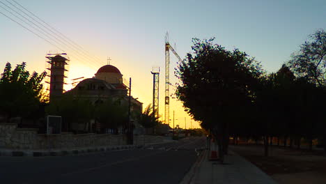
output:
[[[246,158],[281,184],[325,184],[326,155],[323,151],[270,147],[270,156],[264,156],[263,146],[236,145],[232,151]]]

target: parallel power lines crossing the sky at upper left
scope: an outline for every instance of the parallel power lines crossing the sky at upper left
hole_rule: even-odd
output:
[[[7,0],[6,0],[7,1]],[[9,1],[7,1],[8,3],[10,3]],[[7,8],[10,8],[9,6],[7,6],[5,3],[3,3],[3,2],[1,2],[0,1],[0,3],[2,3],[3,5],[5,5]],[[17,6],[15,6],[13,3],[10,3],[12,6],[14,6],[15,8],[17,8]],[[1,8],[3,8],[3,7],[1,7]],[[18,10],[20,10],[22,13],[24,13],[25,15],[27,15],[23,10],[21,10],[20,8],[17,8]],[[5,9],[6,10],[6,9]],[[34,21],[36,21],[38,24],[40,24],[41,26],[43,26],[43,27],[45,27],[45,29],[42,29],[42,27],[40,27],[40,26],[38,26],[38,24],[35,24],[33,21],[31,21],[31,20],[29,20],[28,18],[26,18],[24,15],[22,15],[22,14],[20,14],[20,13],[18,13],[16,10],[14,10],[13,8],[10,8],[10,10],[13,10],[13,12],[15,12],[17,15],[20,15],[20,17],[23,17],[25,20],[27,20],[27,21],[29,21],[29,22],[31,22],[31,24],[33,24],[34,26],[36,26],[36,27],[38,27],[38,29],[36,29],[36,27],[34,27],[34,26],[32,26],[33,27],[33,29],[36,29],[38,32],[40,32],[40,33],[42,33],[42,31],[43,32],[45,32],[45,33],[42,33],[43,35],[45,35],[45,36],[47,36],[47,38],[49,38],[49,39],[51,39],[51,40],[53,40],[55,43],[57,43],[57,44],[59,44],[59,45],[61,45],[61,46],[63,46],[63,47],[69,47],[69,49],[72,49],[72,51],[73,52],[75,52],[76,54],[79,54],[79,55],[84,55],[84,57],[86,58],[86,59],[88,59],[88,60],[95,60],[95,59],[93,59],[93,58],[91,58],[91,57],[89,57],[89,56],[87,56],[86,54],[84,54],[84,52],[81,52],[80,50],[78,51],[78,50],[76,50],[75,48],[73,48],[73,47],[71,47],[70,45],[67,45],[66,43],[64,43],[63,41],[61,41],[62,40],[62,38],[61,38],[61,40],[60,39],[58,39],[56,36],[54,36],[53,34],[51,34],[51,33],[49,33],[48,31],[46,31],[45,29],[48,29],[46,26],[44,26],[43,24],[41,24],[40,22],[38,22],[38,21],[36,21],[35,19],[33,19],[33,17],[31,17],[31,16],[29,16],[29,15],[27,15],[27,16],[29,16],[29,17],[31,17],[32,18],[32,20],[34,20]],[[7,10],[8,11],[8,10]],[[11,13],[10,11],[8,11],[10,14],[12,14],[12,15],[14,15],[13,13]],[[17,17],[16,15],[14,15],[15,17]],[[18,19],[20,19],[20,17],[17,17]],[[23,22],[25,22],[25,24],[29,24],[29,23],[27,23],[26,21],[24,21],[24,20],[22,20],[22,19],[20,19],[21,21],[23,21]],[[29,26],[31,26],[31,24],[29,24]],[[42,31],[40,31],[40,30],[42,30]],[[48,29],[49,31],[52,31],[51,29]],[[52,31],[53,32],[53,31]],[[49,37],[49,36],[52,36],[52,37]],[[69,44],[69,43],[68,43]]]

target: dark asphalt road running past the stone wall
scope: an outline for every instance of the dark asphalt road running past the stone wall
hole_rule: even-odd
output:
[[[0,157],[0,183],[179,183],[204,146],[204,137],[188,137],[133,150]]]

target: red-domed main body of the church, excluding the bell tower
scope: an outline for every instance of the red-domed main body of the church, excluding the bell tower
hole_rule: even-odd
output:
[[[51,92],[50,92],[51,94]],[[85,99],[96,105],[110,99],[118,100],[119,105],[127,106],[129,103],[128,87],[123,84],[123,75],[115,66],[106,65],[98,69],[93,78],[84,79],[79,82],[75,88],[63,93],[63,95],[72,95],[74,98]],[[51,99],[50,99],[51,100]],[[131,97],[132,114],[141,114],[142,103],[137,98]],[[134,123],[134,133],[141,134],[143,128],[137,123],[137,118],[131,119]],[[70,130],[84,132],[110,132],[104,130],[103,126],[95,119],[91,120],[88,125],[71,122]],[[122,132],[123,128],[118,128],[118,132]]]

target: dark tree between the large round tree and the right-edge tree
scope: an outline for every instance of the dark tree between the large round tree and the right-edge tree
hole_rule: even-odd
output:
[[[276,73],[271,73],[260,82],[254,105],[259,119],[263,120],[258,132],[262,132],[265,141],[265,155],[268,155],[268,138],[288,137],[292,135],[294,126],[292,118],[295,108],[293,105],[294,75],[283,65]]]

